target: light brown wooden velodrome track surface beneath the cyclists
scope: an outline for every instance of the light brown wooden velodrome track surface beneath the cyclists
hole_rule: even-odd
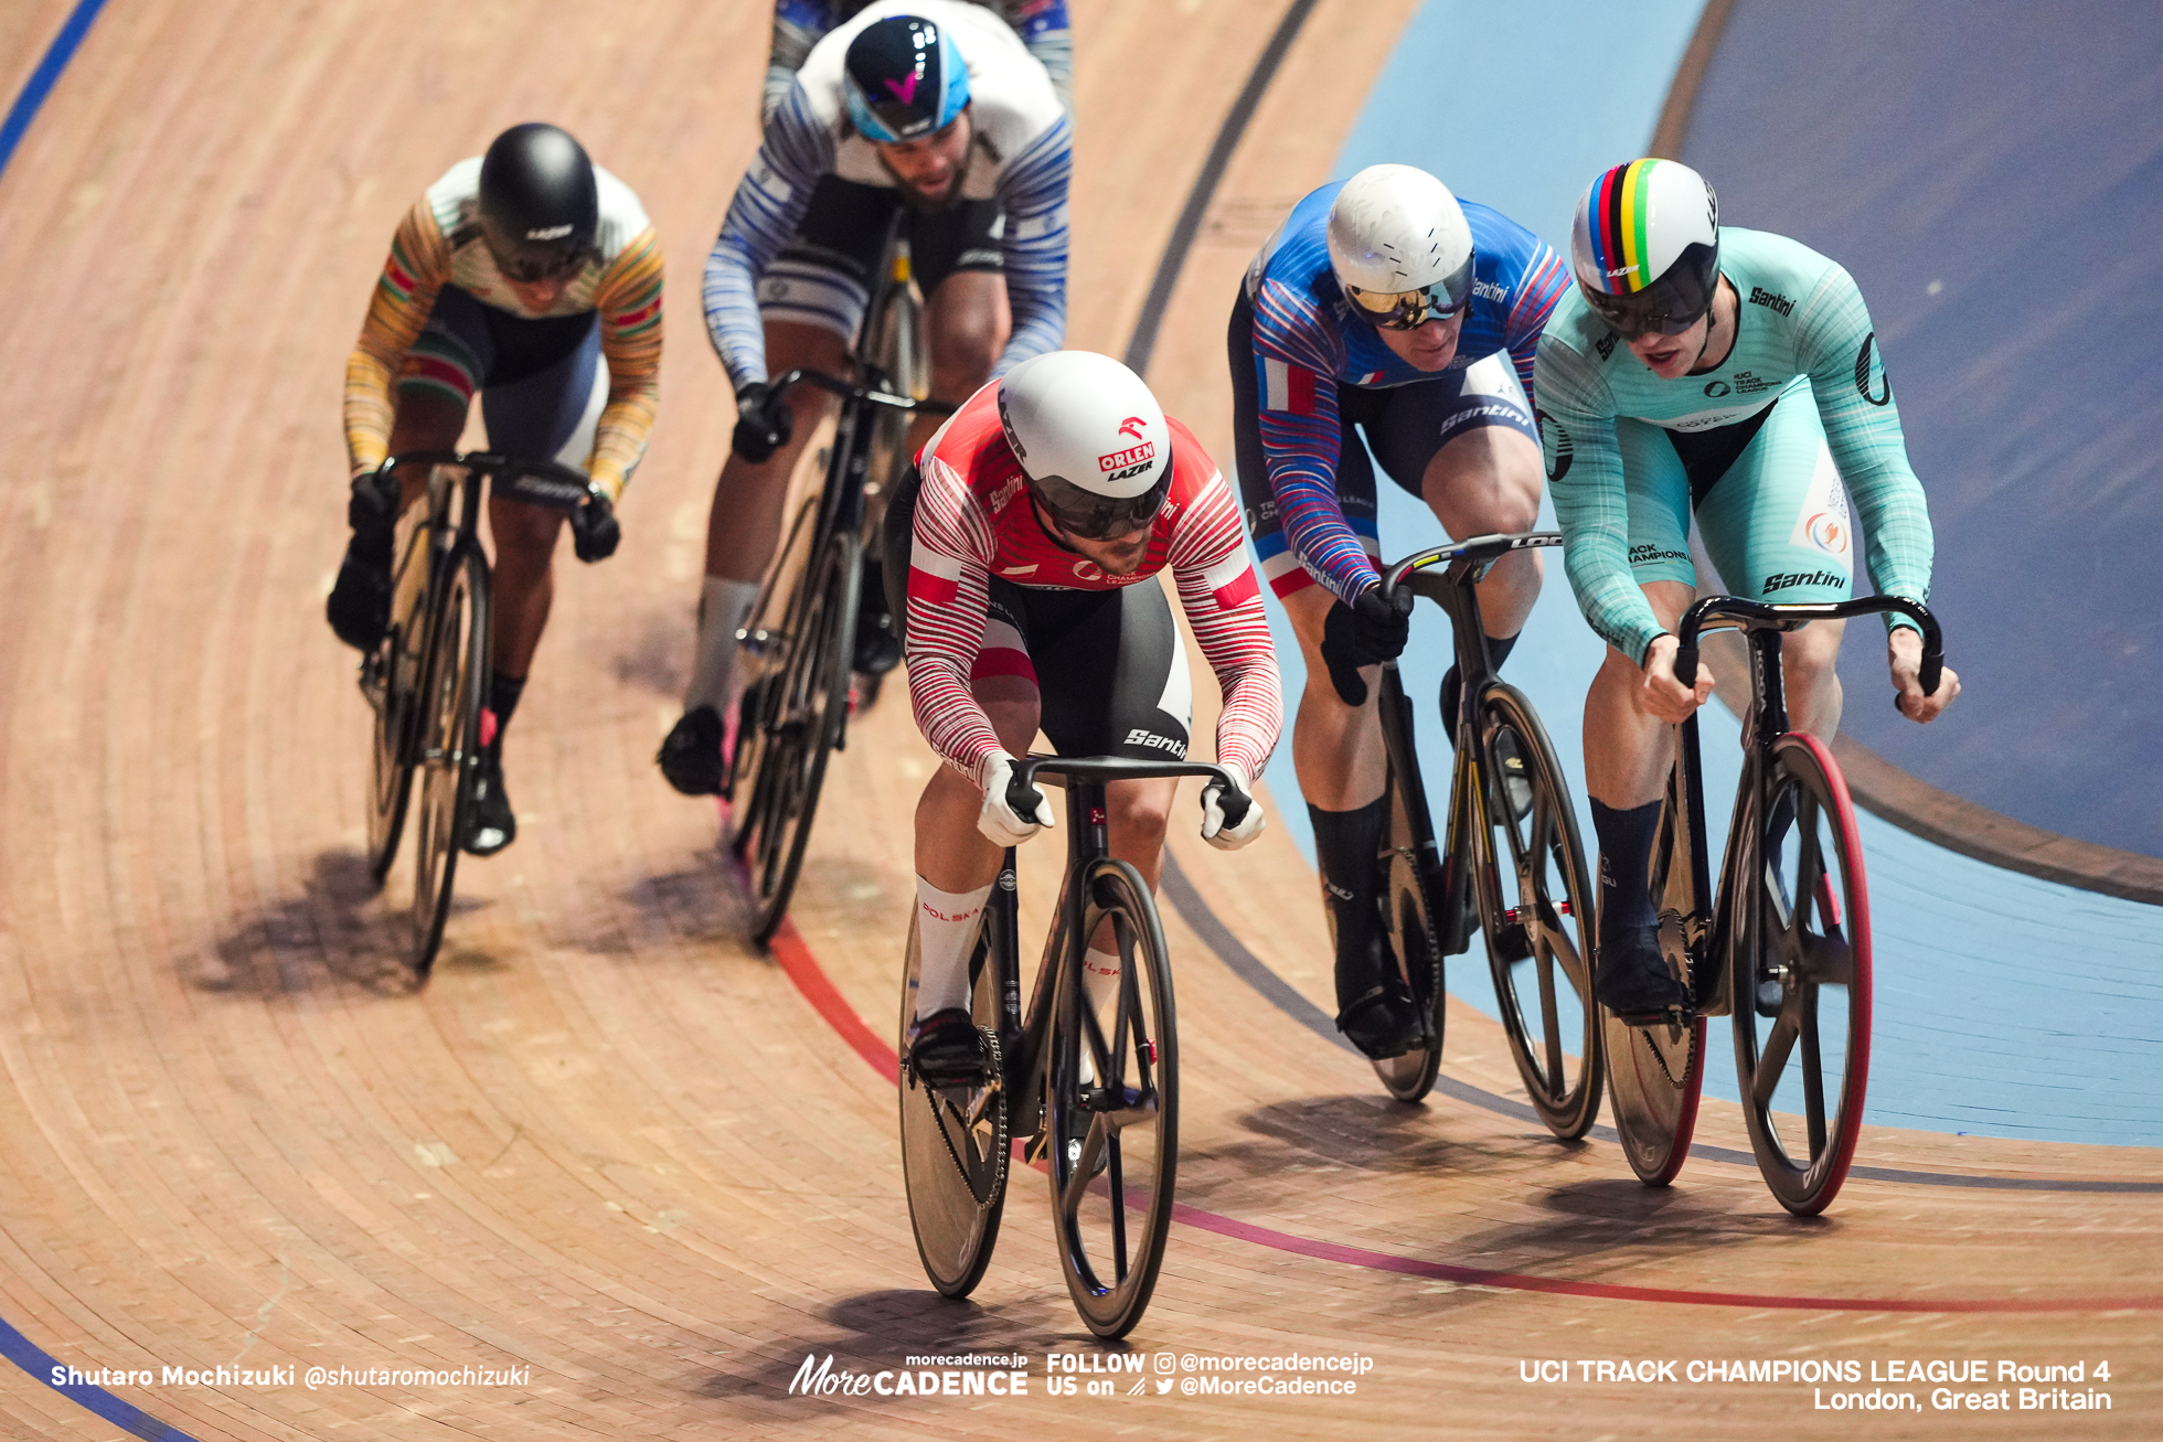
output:
[[[0,15],[9,93],[69,9]],[[1224,173],[1151,370],[1220,454],[1235,275],[1326,177],[1410,11],[1322,0]],[[84,1371],[528,1368],[513,1386],[110,1388],[186,1436],[251,1442],[2159,1436],[2163,1157],[1869,1131],[1858,1163],[1934,1180],[1860,1176],[1815,1224],[1748,1165],[1694,1159],[1644,1191],[1611,1144],[1562,1148],[1443,1096],[1386,1103],[1177,914],[1192,1211],[1133,1345],[1361,1353],[1356,1397],[1047,1397],[1043,1353],[1097,1349],[1025,1174],[976,1301],[926,1289],[891,1059],[876,1066],[930,765],[906,709],[872,711],[837,757],[787,969],[742,940],[714,811],[651,765],[727,445],[696,275],[755,145],[768,13],[115,0],[0,184],[6,1436],[121,1436],[26,1349]],[[1075,4],[1071,344],[1125,348],[1278,13]],[[662,229],[662,424],[623,553],[558,569],[508,744],[521,839],[461,869],[413,997],[359,856],[363,703],[322,625],[337,385],[404,205],[532,117],[580,134]],[[1038,852],[1043,882],[1053,845]],[[1328,1003],[1313,876],[1283,835],[1218,856],[1181,822],[1175,854],[1252,956]],[[1040,891],[1030,906],[1025,925]],[[1449,1077],[1512,1094],[1497,1031],[1451,1025]],[[1713,1046],[1722,1066],[1717,1029]],[[1748,1146],[1733,1109],[1707,1113],[1707,1141]],[[969,1349],[1030,1353],[1030,1397],[787,1394],[807,1353],[876,1371]],[[1577,1368],[1642,1358],[1849,1358],[1865,1379],[2109,1360],[2113,1410],[1858,1418],[1797,1381]],[[1523,1381],[1536,1360],[1568,1360],[1568,1381]]]

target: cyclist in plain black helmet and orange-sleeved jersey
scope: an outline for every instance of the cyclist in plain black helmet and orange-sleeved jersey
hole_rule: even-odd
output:
[[[580,560],[616,549],[614,502],[653,430],[662,363],[662,251],[632,188],[556,125],[513,125],[450,166],[400,223],[346,361],[353,540],[331,629],[361,651],[392,612],[392,530],[424,484],[379,484],[385,456],[456,450],[474,393],[489,445],[584,465],[603,495],[571,512]],[[510,845],[504,726],[554,595],[560,510],[489,497],[495,538],[489,700],[463,843]]]

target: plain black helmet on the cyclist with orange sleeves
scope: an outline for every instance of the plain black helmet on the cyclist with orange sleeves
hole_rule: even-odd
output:
[[[530,121],[495,136],[480,158],[480,233],[513,281],[545,281],[586,264],[601,195],[586,149]]]

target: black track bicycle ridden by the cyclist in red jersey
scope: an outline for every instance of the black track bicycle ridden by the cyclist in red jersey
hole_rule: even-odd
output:
[[[967,1297],[991,1265],[1006,1206],[1012,1135],[1051,1176],[1051,1230],[1066,1293],[1101,1338],[1133,1330],[1164,1263],[1179,1170],[1179,1031],[1172,969],[1149,884],[1107,852],[1105,783],[1153,776],[1222,780],[1224,824],[1250,798],[1222,767],[1120,757],[1023,757],[1008,800],[1030,806],[1030,780],[1066,778],[1066,882],[1021,1007],[1014,850],[984,906],[969,958],[971,1007],[988,1055],[982,1081],[932,1085],[908,1057],[917,999],[917,930],[902,977],[902,1174],[924,1271]],[[1082,953],[1112,932],[1120,958],[1112,1016],[1088,1001]]]

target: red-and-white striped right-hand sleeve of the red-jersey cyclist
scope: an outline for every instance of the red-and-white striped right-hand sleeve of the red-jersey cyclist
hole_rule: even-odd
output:
[[[1222,471],[1209,476],[1179,517],[1168,560],[1179,605],[1224,696],[1218,761],[1261,776],[1285,724],[1285,692],[1261,610],[1261,582],[1246,560],[1246,528]]]

